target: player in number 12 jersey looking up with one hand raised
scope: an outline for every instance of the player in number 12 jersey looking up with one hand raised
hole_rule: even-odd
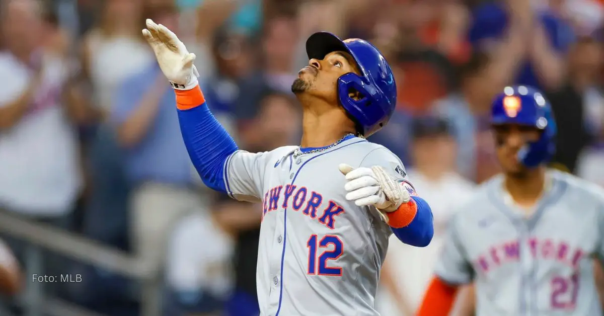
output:
[[[239,150],[199,89],[195,56],[172,31],[143,30],[176,91],[182,137],[208,187],[263,203],[257,289],[261,315],[379,315],[374,296],[394,233],[425,247],[432,213],[400,160],[368,137],[396,106],[390,66],[365,40],[309,37],[292,91],[301,146]]]

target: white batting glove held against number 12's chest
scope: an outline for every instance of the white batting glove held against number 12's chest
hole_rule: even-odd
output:
[[[357,206],[373,205],[378,210],[391,212],[411,199],[409,192],[381,166],[354,169],[347,164],[340,164],[338,167],[346,176],[346,199],[355,201]]]

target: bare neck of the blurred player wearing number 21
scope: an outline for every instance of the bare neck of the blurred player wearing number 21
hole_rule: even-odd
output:
[[[522,175],[507,175],[504,186],[516,204],[532,207],[544,192],[545,168],[527,170]]]

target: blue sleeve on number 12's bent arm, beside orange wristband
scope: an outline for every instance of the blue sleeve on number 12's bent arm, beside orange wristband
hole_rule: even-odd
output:
[[[434,223],[432,222],[432,209],[425,199],[411,196],[417,205],[417,213],[413,221],[405,227],[391,227],[394,235],[406,243],[415,247],[426,247],[434,236]]]

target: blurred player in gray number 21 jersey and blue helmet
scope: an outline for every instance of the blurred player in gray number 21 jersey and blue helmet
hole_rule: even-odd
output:
[[[448,315],[471,282],[478,316],[602,315],[593,258],[604,258],[604,191],[546,168],[556,124],[539,91],[506,87],[491,123],[503,175],[452,217],[419,315]]]

